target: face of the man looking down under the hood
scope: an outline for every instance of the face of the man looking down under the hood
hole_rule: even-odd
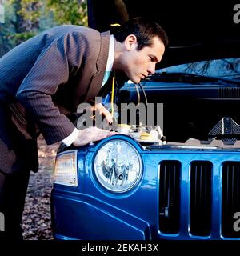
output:
[[[127,39],[127,38],[126,38]],[[123,71],[134,83],[139,83],[149,74],[154,74],[156,63],[160,62],[164,54],[165,46],[156,36],[153,38],[152,46],[145,46],[138,50],[137,40],[125,42]]]

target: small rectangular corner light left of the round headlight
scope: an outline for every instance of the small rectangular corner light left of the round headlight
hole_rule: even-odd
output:
[[[77,150],[70,150],[57,155],[54,183],[66,186],[78,186],[77,152]]]

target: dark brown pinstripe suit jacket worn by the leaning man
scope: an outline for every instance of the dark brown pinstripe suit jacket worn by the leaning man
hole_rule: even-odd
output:
[[[0,170],[38,169],[34,124],[47,144],[73,132],[65,114],[101,89],[109,40],[109,32],[56,26],[0,58]]]

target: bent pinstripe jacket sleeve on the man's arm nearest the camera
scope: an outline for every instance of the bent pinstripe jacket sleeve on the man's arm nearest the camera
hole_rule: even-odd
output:
[[[68,56],[68,49],[71,49],[71,56],[74,50],[78,50],[75,42],[72,44],[71,48],[71,40],[66,35],[43,50],[16,94],[49,145],[68,137],[75,128],[52,101],[58,86],[65,86],[69,80],[70,65],[74,64]]]

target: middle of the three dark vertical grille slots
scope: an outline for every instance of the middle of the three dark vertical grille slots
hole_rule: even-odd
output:
[[[210,235],[212,163],[190,165],[190,234]]]

